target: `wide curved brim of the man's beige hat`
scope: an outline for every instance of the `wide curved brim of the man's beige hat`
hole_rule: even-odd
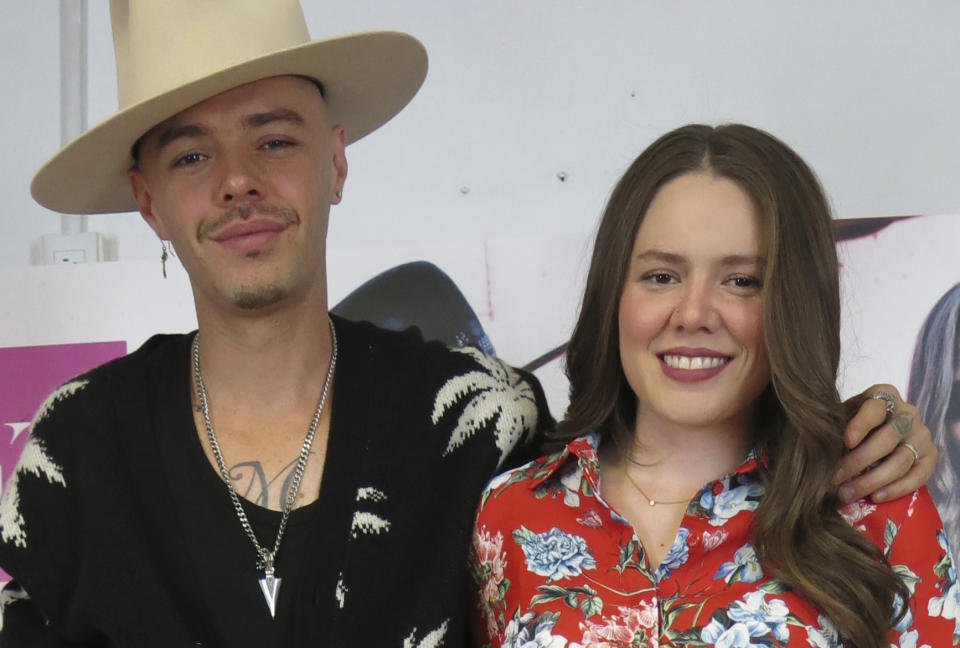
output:
[[[38,203],[67,214],[137,209],[130,149],[173,115],[231,88],[286,74],[319,80],[331,123],[348,144],[407,105],[427,73],[423,45],[400,32],[367,32],[297,45],[221,70],[130,106],[82,133],[44,164],[30,185]]]

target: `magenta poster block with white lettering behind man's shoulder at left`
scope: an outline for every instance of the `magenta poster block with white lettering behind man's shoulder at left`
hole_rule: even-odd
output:
[[[70,378],[126,354],[126,342],[0,348],[0,488],[27,442],[33,414]],[[0,582],[9,580],[0,570]]]

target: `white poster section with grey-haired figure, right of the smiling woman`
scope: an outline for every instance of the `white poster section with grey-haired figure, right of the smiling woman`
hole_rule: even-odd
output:
[[[838,244],[844,288],[841,384],[849,394],[882,376],[917,405],[940,449],[928,487],[956,549],[960,216],[869,220],[876,221],[874,231]]]

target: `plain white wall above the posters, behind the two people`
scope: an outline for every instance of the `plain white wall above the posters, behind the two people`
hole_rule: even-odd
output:
[[[351,147],[333,246],[587,232],[629,160],[689,121],[781,136],[841,217],[960,210],[952,0],[303,4],[316,37],[402,29],[431,57],[408,109]],[[108,2],[88,6],[94,123],[116,96]],[[0,266],[26,265],[59,228],[27,189],[59,146],[58,16],[56,0],[0,0]],[[159,254],[136,217],[90,229],[117,237],[122,260]]]

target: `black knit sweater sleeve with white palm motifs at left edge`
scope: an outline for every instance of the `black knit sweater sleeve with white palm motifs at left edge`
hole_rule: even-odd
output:
[[[80,511],[73,442],[89,425],[87,378],[61,385],[41,405],[0,495],[0,645],[60,646],[80,570]]]

